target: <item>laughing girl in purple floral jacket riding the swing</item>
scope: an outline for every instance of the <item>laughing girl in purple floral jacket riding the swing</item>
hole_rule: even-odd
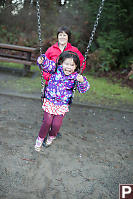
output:
[[[85,77],[78,74],[80,60],[78,55],[72,51],[61,53],[57,64],[43,54],[37,59],[37,64],[42,70],[52,74],[45,90],[42,105],[44,119],[35,144],[35,150],[40,151],[48,133],[46,146],[49,146],[56,138],[65,113],[69,111],[69,102],[75,82],[80,93],[85,93],[90,85]]]

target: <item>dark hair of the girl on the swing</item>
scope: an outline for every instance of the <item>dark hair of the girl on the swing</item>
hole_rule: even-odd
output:
[[[57,60],[57,65],[61,65],[65,59],[67,58],[73,58],[74,63],[76,64],[75,71],[80,72],[80,60],[77,53],[72,51],[64,51],[60,54],[59,59]]]

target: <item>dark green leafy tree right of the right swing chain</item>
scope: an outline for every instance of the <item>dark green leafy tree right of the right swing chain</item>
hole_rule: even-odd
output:
[[[133,63],[133,2],[111,0],[106,2],[99,32],[98,44],[102,68],[128,68]]]

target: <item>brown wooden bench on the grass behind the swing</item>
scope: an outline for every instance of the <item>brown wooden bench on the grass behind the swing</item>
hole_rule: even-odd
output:
[[[31,56],[36,50],[36,48],[0,43],[0,62],[24,64],[24,73],[27,74],[31,64],[35,63]]]

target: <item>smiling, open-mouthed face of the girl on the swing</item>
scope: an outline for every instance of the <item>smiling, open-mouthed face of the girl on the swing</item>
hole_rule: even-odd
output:
[[[73,58],[66,58],[64,62],[62,63],[62,66],[63,66],[63,72],[65,73],[65,75],[72,74],[77,67],[77,65],[73,61]]]

